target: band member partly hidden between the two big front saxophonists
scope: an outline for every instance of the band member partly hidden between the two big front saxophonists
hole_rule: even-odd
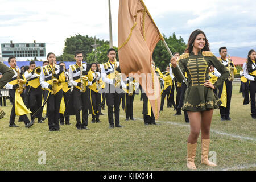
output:
[[[64,62],[59,63],[60,67],[63,67],[63,72],[65,75],[65,81],[62,83],[62,92],[63,92],[63,98],[65,102],[65,107],[68,106],[68,101],[71,96],[71,86],[69,85],[69,78],[68,78],[68,72],[66,69],[66,64]],[[69,122],[69,115],[64,115],[63,113],[60,113],[60,125],[64,125],[64,117],[65,117],[65,124],[71,125]]]

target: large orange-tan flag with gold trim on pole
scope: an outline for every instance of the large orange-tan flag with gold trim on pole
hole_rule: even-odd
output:
[[[160,85],[151,66],[152,53],[163,40],[142,0],[120,0],[118,15],[118,56],[121,72],[129,73],[147,94],[155,119],[159,117]]]

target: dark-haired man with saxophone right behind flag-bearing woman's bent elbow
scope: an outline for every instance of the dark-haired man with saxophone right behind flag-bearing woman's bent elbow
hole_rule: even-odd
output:
[[[229,60],[226,58],[227,55],[227,49],[226,47],[221,47],[219,49],[221,58],[220,61],[221,63],[228,69],[230,69],[230,67],[232,67],[233,70],[233,74],[235,75],[237,72],[236,67],[234,66],[234,63],[232,62],[232,60]],[[230,70],[231,71],[231,70]],[[220,77],[221,74],[217,71],[216,68],[214,68],[214,73],[217,77]],[[223,85],[221,85],[218,88],[218,97],[220,98],[222,104],[220,105],[220,115],[221,115],[221,121],[225,121],[225,120],[231,120],[231,118],[229,117],[230,114],[230,103],[231,103],[231,97],[232,97],[232,81],[231,80],[225,80],[225,82],[223,83]]]

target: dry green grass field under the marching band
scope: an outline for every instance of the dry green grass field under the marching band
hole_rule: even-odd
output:
[[[250,116],[250,105],[242,105],[239,85],[233,86],[232,121],[220,121],[214,110],[210,151],[216,152],[217,167],[200,164],[201,144],[197,145],[195,164],[198,170],[255,170],[256,121]],[[176,93],[176,91],[175,91]],[[109,129],[106,108],[101,123],[91,123],[90,130],[77,130],[75,116],[72,125],[60,126],[61,131],[49,132],[47,119],[26,129],[23,122],[9,127],[11,105],[7,101],[5,118],[0,120],[0,170],[187,170],[186,141],[189,124],[184,114],[174,117],[173,108],[164,105],[160,126],[144,126],[142,105],[135,96],[135,121],[125,121],[121,110],[121,125]],[[30,118],[30,116],[28,116]],[[39,164],[40,151],[46,154],[46,164]]]

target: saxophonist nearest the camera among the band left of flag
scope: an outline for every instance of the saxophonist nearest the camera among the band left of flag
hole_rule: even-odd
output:
[[[44,104],[47,103],[49,131],[60,131],[60,102],[63,96],[61,83],[65,81],[63,68],[56,65],[55,54],[47,55],[49,65],[41,68],[40,84],[45,89]],[[43,104],[43,106],[44,106]]]

